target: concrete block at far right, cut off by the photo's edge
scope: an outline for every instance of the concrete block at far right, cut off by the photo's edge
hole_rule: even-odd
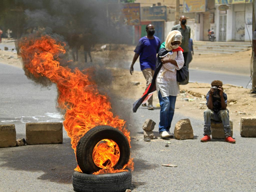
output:
[[[242,117],[240,121],[242,137],[256,137],[256,117]]]

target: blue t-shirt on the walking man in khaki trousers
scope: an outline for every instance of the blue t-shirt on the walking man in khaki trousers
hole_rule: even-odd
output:
[[[135,48],[134,52],[140,55],[141,70],[151,68],[155,70],[156,54],[161,46],[161,41],[158,37],[148,39],[142,37]]]

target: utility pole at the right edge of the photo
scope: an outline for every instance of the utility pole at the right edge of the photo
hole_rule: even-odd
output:
[[[256,4],[255,4],[255,0],[253,0],[253,8],[252,8],[252,33],[254,32],[254,30],[256,29],[255,26],[255,21],[256,21]],[[252,40],[252,50],[256,49],[256,46],[254,44],[255,40]],[[252,91],[256,92],[256,59],[255,59],[255,52],[253,51],[252,53],[253,55],[253,60],[252,60]]]

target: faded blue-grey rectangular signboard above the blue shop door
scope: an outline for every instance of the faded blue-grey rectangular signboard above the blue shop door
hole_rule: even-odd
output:
[[[166,6],[141,7],[141,20],[167,20]]]

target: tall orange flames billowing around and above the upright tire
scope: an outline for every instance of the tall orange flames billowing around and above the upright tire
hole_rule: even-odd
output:
[[[68,67],[60,66],[58,56],[65,54],[65,43],[57,42],[49,35],[37,38],[31,35],[20,39],[18,46],[19,56],[22,57],[25,70],[36,78],[47,77],[51,82],[57,84],[58,107],[66,110],[63,125],[71,138],[71,145],[75,153],[80,138],[98,125],[109,125],[119,129],[130,144],[130,132],[126,129],[125,121],[119,119],[118,116],[113,116],[110,111],[110,102],[105,95],[99,94],[97,86],[88,76],[88,70],[81,72],[75,68],[71,71]],[[127,167],[133,170],[132,160],[130,158],[123,169]],[[82,172],[79,166],[75,170]],[[121,171],[126,170],[114,170],[111,166],[107,166],[106,169],[101,169],[94,174]]]

